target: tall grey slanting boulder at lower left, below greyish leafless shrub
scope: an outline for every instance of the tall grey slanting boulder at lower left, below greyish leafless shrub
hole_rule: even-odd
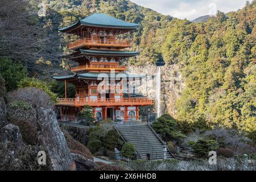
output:
[[[45,148],[53,170],[71,169],[73,160],[65,137],[60,130],[53,110],[40,107],[37,110],[38,140]]]

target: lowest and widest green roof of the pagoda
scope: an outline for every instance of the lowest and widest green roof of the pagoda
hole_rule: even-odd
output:
[[[76,78],[81,79],[97,79],[97,78],[143,78],[145,75],[131,75],[127,73],[76,73],[67,76],[53,76],[55,80],[73,80]]]

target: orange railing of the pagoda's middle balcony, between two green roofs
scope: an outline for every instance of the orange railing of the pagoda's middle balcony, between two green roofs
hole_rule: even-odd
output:
[[[86,64],[80,65],[78,67],[72,67],[72,72],[80,72],[80,71],[110,71],[110,69],[114,69],[115,71],[126,71],[126,66],[121,65],[112,65],[112,64]]]

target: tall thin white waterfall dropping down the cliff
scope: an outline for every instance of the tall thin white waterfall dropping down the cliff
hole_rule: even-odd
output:
[[[155,88],[155,97],[157,104],[157,114],[158,118],[161,116],[161,67],[157,67],[156,71],[156,88]]]

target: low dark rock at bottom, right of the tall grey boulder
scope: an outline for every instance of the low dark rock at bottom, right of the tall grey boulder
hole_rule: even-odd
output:
[[[72,157],[76,163],[77,171],[90,171],[97,165],[93,160],[87,159],[80,154],[72,153]]]

